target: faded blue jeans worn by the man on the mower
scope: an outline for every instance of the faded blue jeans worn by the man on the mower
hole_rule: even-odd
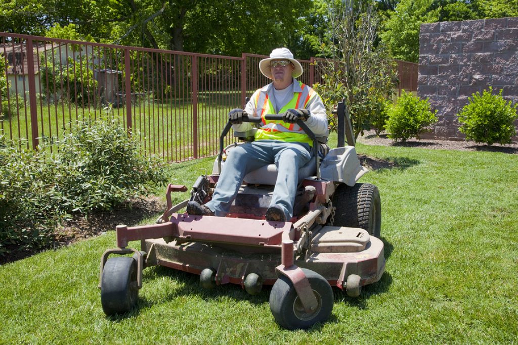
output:
[[[244,176],[267,164],[275,163],[278,174],[270,206],[282,207],[286,219],[293,216],[298,184],[298,169],[311,159],[306,143],[258,140],[238,145],[229,152],[212,200],[205,205],[217,216],[225,216],[242,184]]]

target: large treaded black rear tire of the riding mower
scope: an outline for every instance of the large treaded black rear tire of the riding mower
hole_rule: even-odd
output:
[[[369,235],[381,234],[381,199],[378,187],[370,183],[357,183],[353,187],[340,184],[333,196],[336,207],[333,225],[362,228]]]

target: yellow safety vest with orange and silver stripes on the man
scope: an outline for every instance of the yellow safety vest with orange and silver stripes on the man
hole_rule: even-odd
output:
[[[311,87],[302,82],[298,83],[302,92],[295,92],[293,98],[279,111],[280,114],[288,109],[306,108],[308,102],[316,95]],[[255,132],[255,140],[296,141],[313,146],[313,141],[297,124],[285,123],[282,120],[271,121],[264,118],[266,114],[276,113],[266,92],[258,89],[252,97],[255,97],[256,115],[261,116],[262,119],[261,127]]]

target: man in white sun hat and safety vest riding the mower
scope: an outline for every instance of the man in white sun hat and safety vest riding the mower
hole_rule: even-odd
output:
[[[316,137],[327,139],[327,115],[320,96],[295,79],[302,74],[303,68],[290,50],[274,49],[269,58],[259,62],[259,69],[272,82],[254,92],[244,111],[233,109],[228,113],[228,120],[238,132],[246,132],[253,126],[249,122],[243,123],[243,114],[262,118],[255,141],[238,145],[229,152],[212,200],[205,205],[190,201],[187,205],[189,214],[225,216],[244,176],[275,163],[278,175],[266,219],[286,221],[293,216],[298,169],[312,158],[313,145],[296,124],[297,119],[304,121]],[[283,114],[283,120],[266,120],[265,114]]]

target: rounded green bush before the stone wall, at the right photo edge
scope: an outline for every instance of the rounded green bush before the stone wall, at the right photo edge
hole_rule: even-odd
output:
[[[515,136],[514,121],[518,104],[506,102],[502,97],[502,89],[493,95],[493,87],[489,91],[472,94],[468,104],[457,114],[461,123],[459,130],[466,134],[466,140],[493,145],[494,143],[510,144]]]

